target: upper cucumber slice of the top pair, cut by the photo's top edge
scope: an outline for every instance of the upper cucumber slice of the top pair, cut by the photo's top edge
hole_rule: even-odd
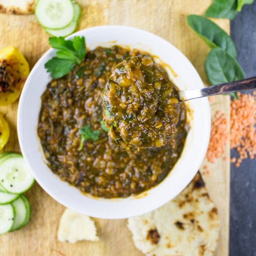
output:
[[[38,0],[35,16],[43,27],[67,27],[74,18],[74,5],[71,0]]]

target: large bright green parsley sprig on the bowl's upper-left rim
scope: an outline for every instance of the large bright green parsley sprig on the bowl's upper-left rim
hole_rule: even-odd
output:
[[[50,37],[49,44],[58,49],[56,57],[45,63],[47,72],[52,78],[61,78],[72,71],[76,64],[81,64],[86,54],[86,43],[84,36],[75,36],[72,40],[64,37]]]

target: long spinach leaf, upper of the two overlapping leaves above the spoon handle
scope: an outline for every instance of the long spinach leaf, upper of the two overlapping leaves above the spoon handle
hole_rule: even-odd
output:
[[[189,15],[187,21],[189,26],[209,47],[221,47],[236,58],[236,46],[231,37],[222,28],[211,20],[199,15]]]

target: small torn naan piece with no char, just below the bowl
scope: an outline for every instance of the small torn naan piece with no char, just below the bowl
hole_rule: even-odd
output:
[[[81,240],[99,241],[94,221],[71,209],[66,209],[61,216],[58,240],[75,243]]]

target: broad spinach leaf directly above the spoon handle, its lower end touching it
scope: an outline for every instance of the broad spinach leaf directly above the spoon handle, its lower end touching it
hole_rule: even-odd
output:
[[[236,59],[221,48],[210,50],[205,60],[205,72],[212,85],[245,78],[243,69]]]

